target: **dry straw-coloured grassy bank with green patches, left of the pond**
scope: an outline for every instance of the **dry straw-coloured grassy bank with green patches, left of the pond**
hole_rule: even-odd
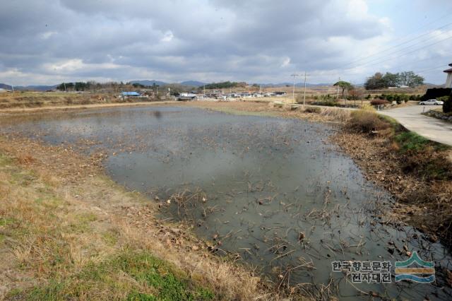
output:
[[[97,165],[95,155],[0,138],[0,299],[275,297]]]

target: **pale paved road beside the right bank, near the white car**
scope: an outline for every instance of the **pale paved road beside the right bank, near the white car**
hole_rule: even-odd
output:
[[[436,106],[410,105],[381,111],[380,113],[393,117],[410,131],[415,131],[430,140],[452,146],[452,123],[422,115],[424,108],[427,112],[436,108]]]

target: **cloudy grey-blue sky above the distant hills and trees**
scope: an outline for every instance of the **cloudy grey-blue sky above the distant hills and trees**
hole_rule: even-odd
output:
[[[450,0],[8,0],[0,83],[363,83],[416,71],[444,83]],[[301,79],[299,79],[301,81]]]

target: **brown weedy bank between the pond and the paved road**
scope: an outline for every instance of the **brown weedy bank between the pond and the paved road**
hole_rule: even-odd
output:
[[[393,217],[452,244],[451,150],[367,108],[351,114],[333,138],[367,179],[396,198]]]

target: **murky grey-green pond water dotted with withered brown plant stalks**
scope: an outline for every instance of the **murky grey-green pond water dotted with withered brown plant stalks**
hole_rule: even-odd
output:
[[[329,283],[344,300],[359,290],[451,298],[441,277],[450,254],[410,227],[384,224],[390,197],[327,142],[333,129],[324,124],[150,107],[16,119],[2,129],[81,151],[101,148],[116,182],[158,196],[163,216],[194,225],[213,252],[256,266],[276,287],[319,296]],[[392,276],[389,284],[350,284],[332,272],[332,261],[394,265],[408,259],[404,245],[435,262],[435,283],[395,283]]]

